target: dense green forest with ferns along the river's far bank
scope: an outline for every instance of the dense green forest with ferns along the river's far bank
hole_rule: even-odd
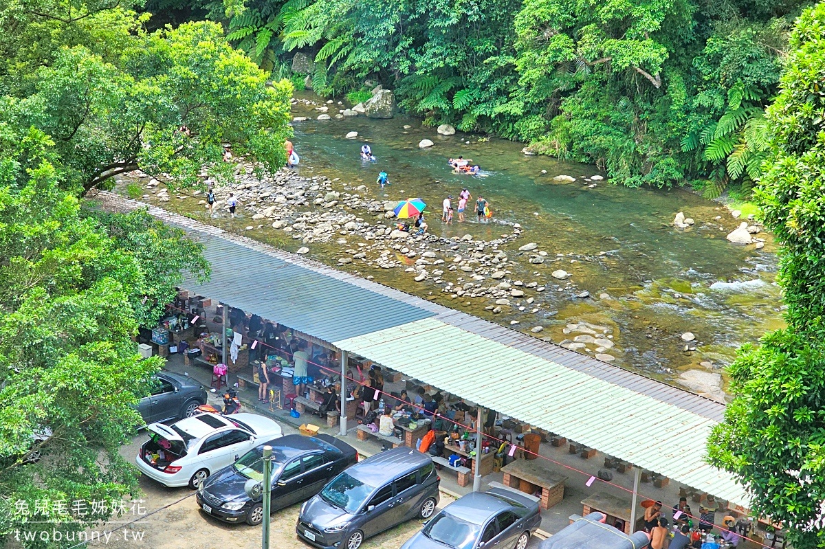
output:
[[[625,185],[751,185],[787,32],[785,0],[218,0],[263,68],[309,54],[316,92],[372,79],[428,124],[593,162]],[[149,2],[174,6],[174,0]],[[224,8],[226,11],[224,12]],[[225,14],[225,15],[224,15]],[[302,82],[303,77],[295,78]]]

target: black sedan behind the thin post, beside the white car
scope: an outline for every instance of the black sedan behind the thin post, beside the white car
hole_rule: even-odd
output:
[[[309,500],[338,473],[358,461],[349,444],[328,434],[306,437],[287,434],[262,443],[237,462],[206,479],[197,491],[202,511],[228,523],[260,524],[262,498],[250,499],[243,490],[247,480],[263,480],[263,447],[272,447],[271,511]]]

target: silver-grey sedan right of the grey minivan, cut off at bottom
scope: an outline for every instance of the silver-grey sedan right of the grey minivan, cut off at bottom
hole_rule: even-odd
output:
[[[540,523],[538,498],[491,488],[464,495],[441,509],[401,549],[526,549]]]

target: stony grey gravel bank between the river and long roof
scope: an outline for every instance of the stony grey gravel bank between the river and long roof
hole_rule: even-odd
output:
[[[143,199],[160,205],[196,201],[200,215],[208,216],[201,190],[170,191],[140,172],[127,179],[145,187]],[[479,228],[488,228],[485,223],[463,223],[467,232],[449,238],[431,232],[413,234],[398,230],[399,220],[392,211],[398,200],[376,196],[377,187],[326,176],[304,177],[287,169],[259,179],[247,162],[238,164],[233,184],[215,189],[215,221],[232,220],[226,204],[229,192],[238,199],[235,219],[244,232],[280,233],[279,240],[298,241],[296,253],[318,256],[367,279],[378,275],[383,281],[376,271],[394,270],[408,279],[403,284],[408,291],[507,317],[510,320],[502,323],[516,330],[597,359],[612,362],[622,354],[614,340],[617,326],[568,321],[560,327],[561,337],[549,331],[549,324],[558,325],[552,320],[557,315],[554,301],[593,298],[577,286],[576,272],[583,263],[599,262],[607,251],[597,256],[551,254],[535,242],[522,242],[518,223],[494,223],[501,233],[492,239],[474,235]],[[428,221],[441,224],[438,219]],[[544,298],[545,292],[554,293],[553,298]],[[611,299],[607,293],[597,298]]]

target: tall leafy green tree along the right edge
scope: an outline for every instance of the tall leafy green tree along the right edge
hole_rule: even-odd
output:
[[[755,197],[780,242],[788,328],[742,348],[733,402],[709,456],[752,491],[753,508],[790,527],[794,547],[825,547],[825,4],[790,37],[767,109],[767,159]]]

